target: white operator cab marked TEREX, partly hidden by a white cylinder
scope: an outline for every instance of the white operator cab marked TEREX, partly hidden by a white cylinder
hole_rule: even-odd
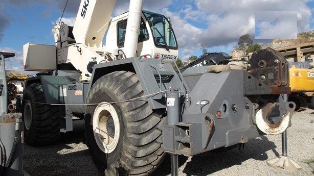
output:
[[[123,51],[128,12],[110,21],[106,35],[109,53]],[[171,23],[164,15],[142,11],[137,45],[137,57],[150,55],[154,59],[177,59],[177,42]]]

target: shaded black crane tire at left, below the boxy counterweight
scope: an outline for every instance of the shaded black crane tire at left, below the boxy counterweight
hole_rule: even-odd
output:
[[[49,145],[60,138],[58,107],[46,104],[39,83],[27,86],[23,93],[24,140],[29,145]]]

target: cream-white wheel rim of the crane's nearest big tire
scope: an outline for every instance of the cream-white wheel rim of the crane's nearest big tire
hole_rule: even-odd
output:
[[[113,106],[102,102],[96,107],[93,116],[93,132],[98,147],[104,153],[109,154],[115,150],[120,137],[120,122]]]

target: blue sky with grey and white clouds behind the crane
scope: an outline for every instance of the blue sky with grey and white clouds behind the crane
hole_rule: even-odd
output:
[[[24,44],[54,45],[51,30],[63,10],[62,21],[74,24],[80,0],[69,0],[64,9],[65,4],[66,0],[0,1],[0,52],[16,55],[6,59],[7,70],[23,70]],[[129,1],[117,0],[111,16],[128,7]],[[200,56],[202,43],[208,52],[230,54],[244,34],[255,44],[296,38],[314,29],[314,0],[144,0],[143,10],[170,17],[181,60]]]

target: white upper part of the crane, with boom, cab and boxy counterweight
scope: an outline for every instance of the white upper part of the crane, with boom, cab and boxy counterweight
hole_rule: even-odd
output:
[[[25,70],[78,70],[80,81],[89,81],[94,64],[120,59],[122,52],[124,57],[150,55],[170,62],[177,59],[175,36],[165,16],[142,12],[143,2],[133,0],[129,12],[110,19],[115,3],[115,0],[81,1],[73,27],[63,22],[54,26],[56,47],[25,44]],[[148,14],[154,16],[150,21]],[[160,29],[151,26],[155,24]],[[105,33],[106,45],[102,45]]]

